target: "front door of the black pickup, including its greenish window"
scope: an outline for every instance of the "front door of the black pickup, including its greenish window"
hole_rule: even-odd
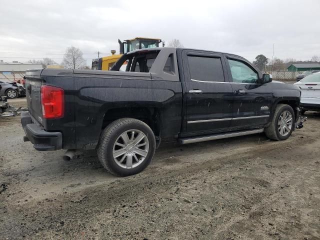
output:
[[[268,83],[259,84],[261,76],[245,59],[227,56],[226,63],[234,96],[231,127],[267,123],[272,103]]]

